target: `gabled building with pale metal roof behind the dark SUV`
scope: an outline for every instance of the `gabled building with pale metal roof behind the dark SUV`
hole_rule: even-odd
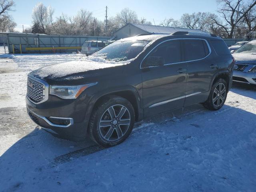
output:
[[[172,34],[176,31],[188,31],[188,32],[203,32],[198,29],[186,29],[178,27],[164,27],[157,25],[144,25],[144,24],[127,24],[122,28],[114,32],[115,39],[122,39],[127,37],[136,36],[138,34]]]

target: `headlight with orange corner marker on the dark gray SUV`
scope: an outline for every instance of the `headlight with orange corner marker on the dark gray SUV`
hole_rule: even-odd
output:
[[[77,98],[86,88],[96,85],[97,83],[90,83],[85,85],[77,86],[59,86],[50,85],[50,95],[56,95],[63,99],[75,99]]]

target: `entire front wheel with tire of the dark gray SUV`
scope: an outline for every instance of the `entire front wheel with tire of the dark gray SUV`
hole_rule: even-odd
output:
[[[132,132],[134,120],[134,108],[128,100],[107,96],[92,112],[90,138],[104,147],[120,144]]]

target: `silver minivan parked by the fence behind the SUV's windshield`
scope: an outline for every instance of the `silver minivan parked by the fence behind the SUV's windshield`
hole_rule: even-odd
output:
[[[108,43],[103,41],[85,41],[82,45],[81,53],[88,55],[93,54]]]

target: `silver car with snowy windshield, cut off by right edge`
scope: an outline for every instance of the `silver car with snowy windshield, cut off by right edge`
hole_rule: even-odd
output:
[[[256,40],[252,40],[234,52],[233,81],[256,85]]]

